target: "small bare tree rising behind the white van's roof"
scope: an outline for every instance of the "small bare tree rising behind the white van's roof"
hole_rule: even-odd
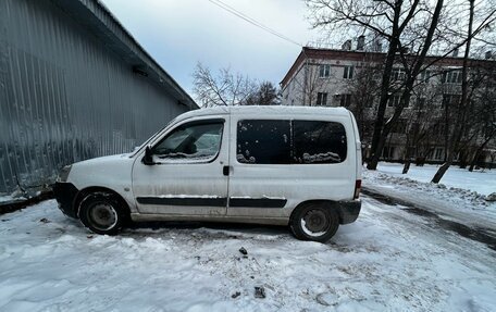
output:
[[[222,68],[216,75],[198,63],[193,73],[194,92],[203,107],[243,105],[257,91],[257,83],[230,68]]]

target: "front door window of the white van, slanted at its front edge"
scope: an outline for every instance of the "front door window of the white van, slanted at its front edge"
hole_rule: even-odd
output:
[[[193,122],[173,129],[152,149],[158,162],[164,160],[211,161],[221,148],[223,122]]]

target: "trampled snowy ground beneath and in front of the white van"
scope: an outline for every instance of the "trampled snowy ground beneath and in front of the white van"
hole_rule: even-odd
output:
[[[0,311],[496,311],[494,250],[367,196],[325,245],[236,225],[98,236],[53,200],[0,220]]]

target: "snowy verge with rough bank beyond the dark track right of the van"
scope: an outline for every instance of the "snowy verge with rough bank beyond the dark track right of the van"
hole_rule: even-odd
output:
[[[363,169],[363,189],[373,190],[393,198],[405,200],[434,211],[445,219],[454,220],[470,226],[485,227],[496,233],[496,202],[487,201],[484,195],[470,187],[478,188],[473,180],[479,179],[479,185],[494,185],[491,172],[456,172],[459,187],[448,187],[444,183],[436,185],[422,182],[429,172],[434,175],[435,167],[412,167],[407,175],[401,175],[401,164],[380,163],[377,171]],[[448,170],[448,174],[451,169]],[[463,185],[463,180],[471,182]],[[479,189],[481,189],[479,187]]]

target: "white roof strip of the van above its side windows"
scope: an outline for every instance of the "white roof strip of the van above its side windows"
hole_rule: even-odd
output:
[[[181,120],[193,116],[219,115],[219,114],[248,114],[257,113],[261,116],[295,114],[295,115],[340,115],[349,116],[349,111],[345,108],[326,107],[284,107],[284,105],[244,105],[244,107],[215,107],[189,111],[179,116]]]

